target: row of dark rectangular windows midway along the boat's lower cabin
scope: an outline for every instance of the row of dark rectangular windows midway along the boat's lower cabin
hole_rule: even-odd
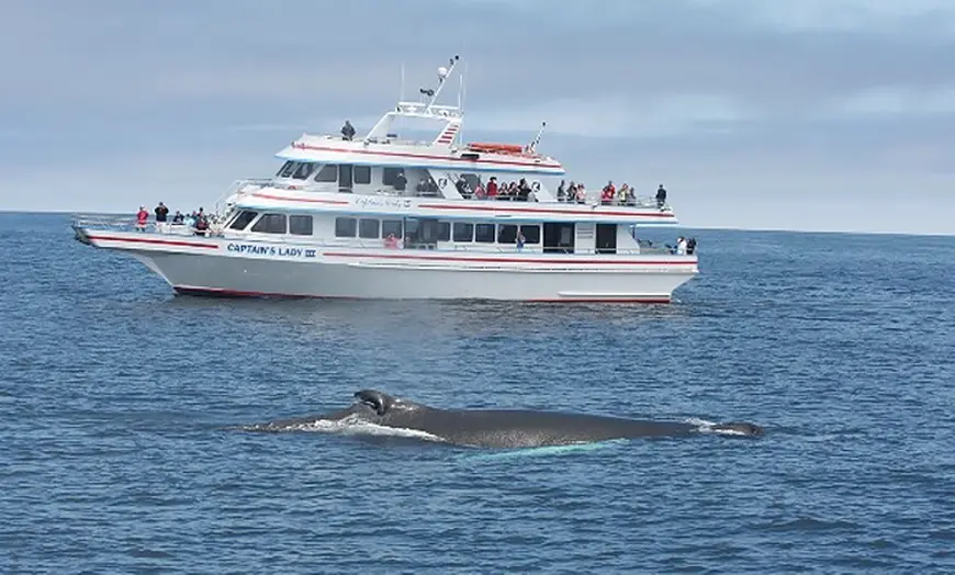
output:
[[[372,217],[338,217],[335,219],[335,237],[362,239],[378,239],[394,236],[404,237],[404,222],[401,219],[382,219]],[[478,244],[517,244],[518,230],[524,236],[525,244],[540,244],[540,225],[516,224],[471,224],[468,222],[437,222],[434,238],[437,241],[478,243]],[[408,226],[409,228],[412,226]],[[412,234],[412,230],[407,230]],[[415,225],[415,235],[420,234]]]

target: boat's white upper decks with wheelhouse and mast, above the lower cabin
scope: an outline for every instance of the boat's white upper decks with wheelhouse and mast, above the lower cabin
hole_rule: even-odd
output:
[[[303,134],[277,154],[285,161],[272,178],[235,182],[217,211],[238,206],[422,217],[459,214],[468,218],[677,223],[668,205],[637,198],[633,192],[613,202],[602,201],[599,191],[581,192],[581,198],[575,194],[573,201],[565,201],[561,191],[571,182],[562,181],[563,166],[537,149],[544,123],[526,145],[463,142],[460,92],[458,105],[437,103],[457,64],[454,56],[447,68],[438,69],[436,87],[419,90],[420,101],[400,100],[363,136],[349,121],[339,135]],[[430,135],[409,137],[424,132],[402,132],[402,123],[430,126]],[[484,193],[491,189],[501,192],[495,201]]]

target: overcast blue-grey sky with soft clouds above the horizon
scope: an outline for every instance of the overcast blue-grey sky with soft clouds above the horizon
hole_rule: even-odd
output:
[[[953,0],[3,0],[0,208],[210,205],[456,53],[468,139],[686,225],[955,234]]]

